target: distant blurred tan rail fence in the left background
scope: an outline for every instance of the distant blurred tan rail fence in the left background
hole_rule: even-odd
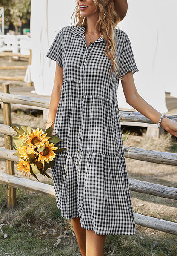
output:
[[[31,49],[29,50],[30,54],[29,55],[24,55],[21,53],[12,53],[12,52],[0,52],[0,57],[20,57],[20,58],[27,58],[28,59],[28,65],[31,65],[31,58],[32,58],[32,51]],[[0,66],[0,69],[5,69],[5,70],[12,70],[12,69],[27,69],[27,66]],[[4,76],[4,75],[0,75],[0,79],[1,80],[12,80],[12,81],[24,81],[24,77],[23,76]],[[27,83],[28,87],[32,86],[32,83]]]

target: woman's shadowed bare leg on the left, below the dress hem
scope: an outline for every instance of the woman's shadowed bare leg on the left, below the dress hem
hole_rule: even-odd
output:
[[[79,217],[71,219],[71,224],[76,235],[77,243],[80,248],[80,253],[82,254],[82,256],[86,256],[86,229],[81,227]]]

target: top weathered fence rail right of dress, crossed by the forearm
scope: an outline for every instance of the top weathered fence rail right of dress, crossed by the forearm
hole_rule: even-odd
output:
[[[120,113],[120,121],[155,124],[150,119],[146,118],[144,115],[142,115],[136,111],[121,111],[120,110],[119,113]],[[167,116],[167,117],[171,120],[177,121],[177,115],[176,116]]]

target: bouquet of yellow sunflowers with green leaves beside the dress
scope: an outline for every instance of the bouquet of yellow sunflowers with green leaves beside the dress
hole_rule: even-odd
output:
[[[60,148],[57,143],[62,141],[56,135],[52,135],[52,125],[43,132],[42,129],[32,129],[30,126],[11,126],[17,132],[13,139],[13,146],[17,150],[14,153],[19,157],[17,170],[26,175],[41,173],[51,178],[46,170],[53,166],[55,155],[66,150]]]

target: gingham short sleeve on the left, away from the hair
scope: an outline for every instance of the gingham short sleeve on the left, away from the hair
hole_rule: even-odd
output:
[[[61,29],[58,34],[56,35],[53,43],[50,46],[49,51],[47,52],[46,56],[51,60],[55,60],[58,63],[58,66],[63,68],[62,63],[62,34],[63,29]]]

